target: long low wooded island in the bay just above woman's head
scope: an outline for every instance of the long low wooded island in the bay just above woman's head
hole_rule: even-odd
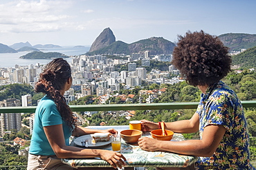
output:
[[[30,52],[24,56],[20,56],[20,59],[57,59],[68,58],[65,54],[60,52]]]

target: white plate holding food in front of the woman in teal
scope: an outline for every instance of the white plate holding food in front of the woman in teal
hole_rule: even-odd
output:
[[[84,135],[84,136],[80,136],[78,138],[76,138],[74,140],[75,145],[78,145],[80,147],[84,147],[82,145],[82,140],[87,140],[88,141],[88,148],[93,148],[93,147],[104,147],[106,145],[109,145],[111,143],[111,140],[107,141],[107,142],[96,142],[95,144],[91,143],[91,140],[93,140],[93,137],[91,135]]]

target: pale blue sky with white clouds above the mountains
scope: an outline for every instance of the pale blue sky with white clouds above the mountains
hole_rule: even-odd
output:
[[[1,0],[0,43],[90,46],[105,28],[125,43],[176,43],[189,30],[256,34],[255,8],[255,0]]]

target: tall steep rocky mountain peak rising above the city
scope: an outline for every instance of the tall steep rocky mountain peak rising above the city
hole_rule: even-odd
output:
[[[100,50],[103,47],[107,47],[111,45],[111,43],[116,42],[116,37],[113,35],[113,32],[110,28],[105,28],[100,35],[95,39],[89,52],[93,52],[95,50]]]

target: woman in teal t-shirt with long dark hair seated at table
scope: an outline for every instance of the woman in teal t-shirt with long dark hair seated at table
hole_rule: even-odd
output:
[[[102,158],[113,168],[122,168],[121,153],[101,149],[82,149],[68,145],[71,135],[95,132],[115,134],[115,129],[94,130],[75,125],[73,113],[66,105],[64,92],[71,87],[71,67],[64,59],[54,59],[46,65],[35,85],[35,92],[46,94],[35,111],[34,129],[30,142],[28,169],[73,169],[60,158]]]

